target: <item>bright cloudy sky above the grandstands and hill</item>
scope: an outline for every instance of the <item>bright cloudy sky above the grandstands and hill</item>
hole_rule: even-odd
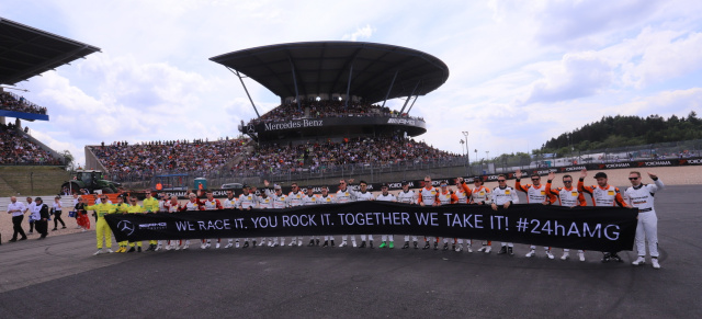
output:
[[[464,153],[468,132],[471,159],[529,152],[602,116],[702,114],[702,1],[3,0],[0,16],[101,48],[8,90],[48,109],[32,135],[78,163],[102,141],[237,136],[256,113],[208,58],[292,42],[443,60],[448,81],[411,110],[427,121],[416,139]],[[280,103],[245,81],[259,111]]]

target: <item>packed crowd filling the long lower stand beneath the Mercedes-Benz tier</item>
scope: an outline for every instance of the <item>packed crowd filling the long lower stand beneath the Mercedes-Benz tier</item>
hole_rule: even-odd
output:
[[[247,149],[249,139],[217,141],[149,141],[129,145],[115,141],[91,146],[107,170],[107,178],[147,180],[158,174],[222,172],[237,155],[241,161],[228,168],[234,173],[282,173],[309,170],[335,171],[347,166],[386,166],[452,160],[461,157],[439,150],[423,141],[403,137],[344,138],[302,145],[262,145]]]

